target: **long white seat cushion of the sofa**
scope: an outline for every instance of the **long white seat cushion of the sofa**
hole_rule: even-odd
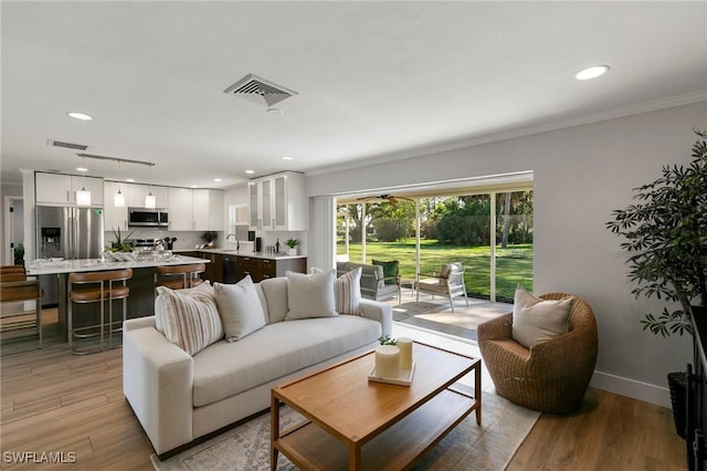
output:
[[[205,406],[337,355],[373,344],[381,324],[340,315],[278,322],[193,357],[193,404]]]

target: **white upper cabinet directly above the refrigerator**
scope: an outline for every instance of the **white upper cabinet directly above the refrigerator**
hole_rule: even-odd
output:
[[[91,206],[103,207],[103,178],[80,175],[34,174],[36,205],[76,205],[76,191],[91,191]]]

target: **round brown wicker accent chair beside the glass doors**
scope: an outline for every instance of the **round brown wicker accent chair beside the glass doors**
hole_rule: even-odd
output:
[[[539,297],[567,296],[573,297],[570,332],[529,349],[513,339],[513,313],[478,326],[478,347],[500,396],[541,412],[571,414],[580,408],[599,349],[594,313],[584,300],[571,294]]]

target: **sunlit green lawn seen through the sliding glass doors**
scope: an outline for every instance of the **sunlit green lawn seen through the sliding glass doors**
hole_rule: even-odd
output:
[[[339,241],[337,253],[345,253],[344,242]],[[398,260],[403,278],[415,278],[415,241],[407,239],[399,242],[367,242],[366,263],[376,260]],[[361,244],[349,244],[349,260],[360,262]],[[488,297],[490,294],[490,248],[445,245],[435,240],[420,241],[420,271],[439,272],[443,263],[462,262],[466,268],[464,281],[472,296]],[[496,248],[496,297],[513,300],[516,285],[521,283],[532,292],[532,244]]]

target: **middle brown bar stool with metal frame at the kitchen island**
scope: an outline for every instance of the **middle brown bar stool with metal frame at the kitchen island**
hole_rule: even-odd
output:
[[[127,318],[127,297],[130,289],[126,281],[133,278],[133,269],[107,272],[82,272],[68,274],[68,346],[75,355],[85,355],[104,349],[104,332],[108,329],[108,348],[113,348],[113,333],[123,331],[123,322]],[[113,320],[113,301],[123,300],[123,318]],[[108,322],[105,320],[105,302],[108,302]],[[101,303],[101,323],[74,328],[73,304]],[[114,328],[119,323],[120,327]],[[101,345],[95,349],[81,350],[73,343],[74,338],[101,337]],[[120,345],[116,345],[118,347]]]

